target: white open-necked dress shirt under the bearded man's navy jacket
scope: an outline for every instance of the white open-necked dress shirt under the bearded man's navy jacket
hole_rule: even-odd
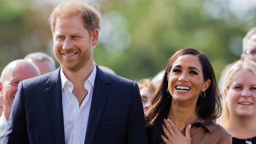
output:
[[[88,94],[82,101],[79,108],[79,102],[72,93],[74,85],[60,70],[61,87],[62,87],[62,109],[64,121],[64,134],[66,144],[84,144],[90,107],[92,104],[92,93],[96,77],[96,64],[88,79],[84,82],[84,88]]]

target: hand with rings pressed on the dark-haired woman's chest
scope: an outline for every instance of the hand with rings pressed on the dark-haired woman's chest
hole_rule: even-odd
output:
[[[164,119],[162,129],[165,136],[161,134],[161,139],[165,144],[191,144],[190,128],[191,124],[186,127],[184,136],[172,120]]]

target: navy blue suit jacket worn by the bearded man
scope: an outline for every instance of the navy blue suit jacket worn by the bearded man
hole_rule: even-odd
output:
[[[85,144],[148,144],[138,84],[96,68]],[[19,83],[7,143],[65,143],[60,68]]]

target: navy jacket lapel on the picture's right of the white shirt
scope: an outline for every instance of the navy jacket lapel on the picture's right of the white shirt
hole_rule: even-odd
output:
[[[92,144],[109,92],[109,87],[106,86],[106,84],[108,83],[108,78],[106,74],[102,70],[100,70],[98,66],[96,66],[96,68],[97,74],[94,83],[92,104],[86,130],[85,144]]]

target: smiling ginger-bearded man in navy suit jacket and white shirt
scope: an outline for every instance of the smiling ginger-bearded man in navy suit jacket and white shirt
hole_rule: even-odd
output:
[[[100,13],[68,0],[50,24],[60,68],[20,82],[4,142],[147,144],[138,84],[94,63]]]

